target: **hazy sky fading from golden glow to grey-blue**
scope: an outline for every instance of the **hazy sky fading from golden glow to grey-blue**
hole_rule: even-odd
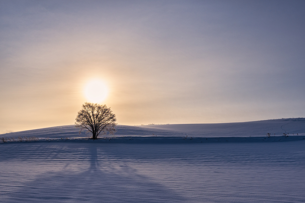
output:
[[[305,117],[305,1],[0,1],[0,133]]]

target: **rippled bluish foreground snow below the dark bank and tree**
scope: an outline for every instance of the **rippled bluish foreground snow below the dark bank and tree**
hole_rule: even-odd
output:
[[[304,144],[5,143],[0,202],[304,202]]]

